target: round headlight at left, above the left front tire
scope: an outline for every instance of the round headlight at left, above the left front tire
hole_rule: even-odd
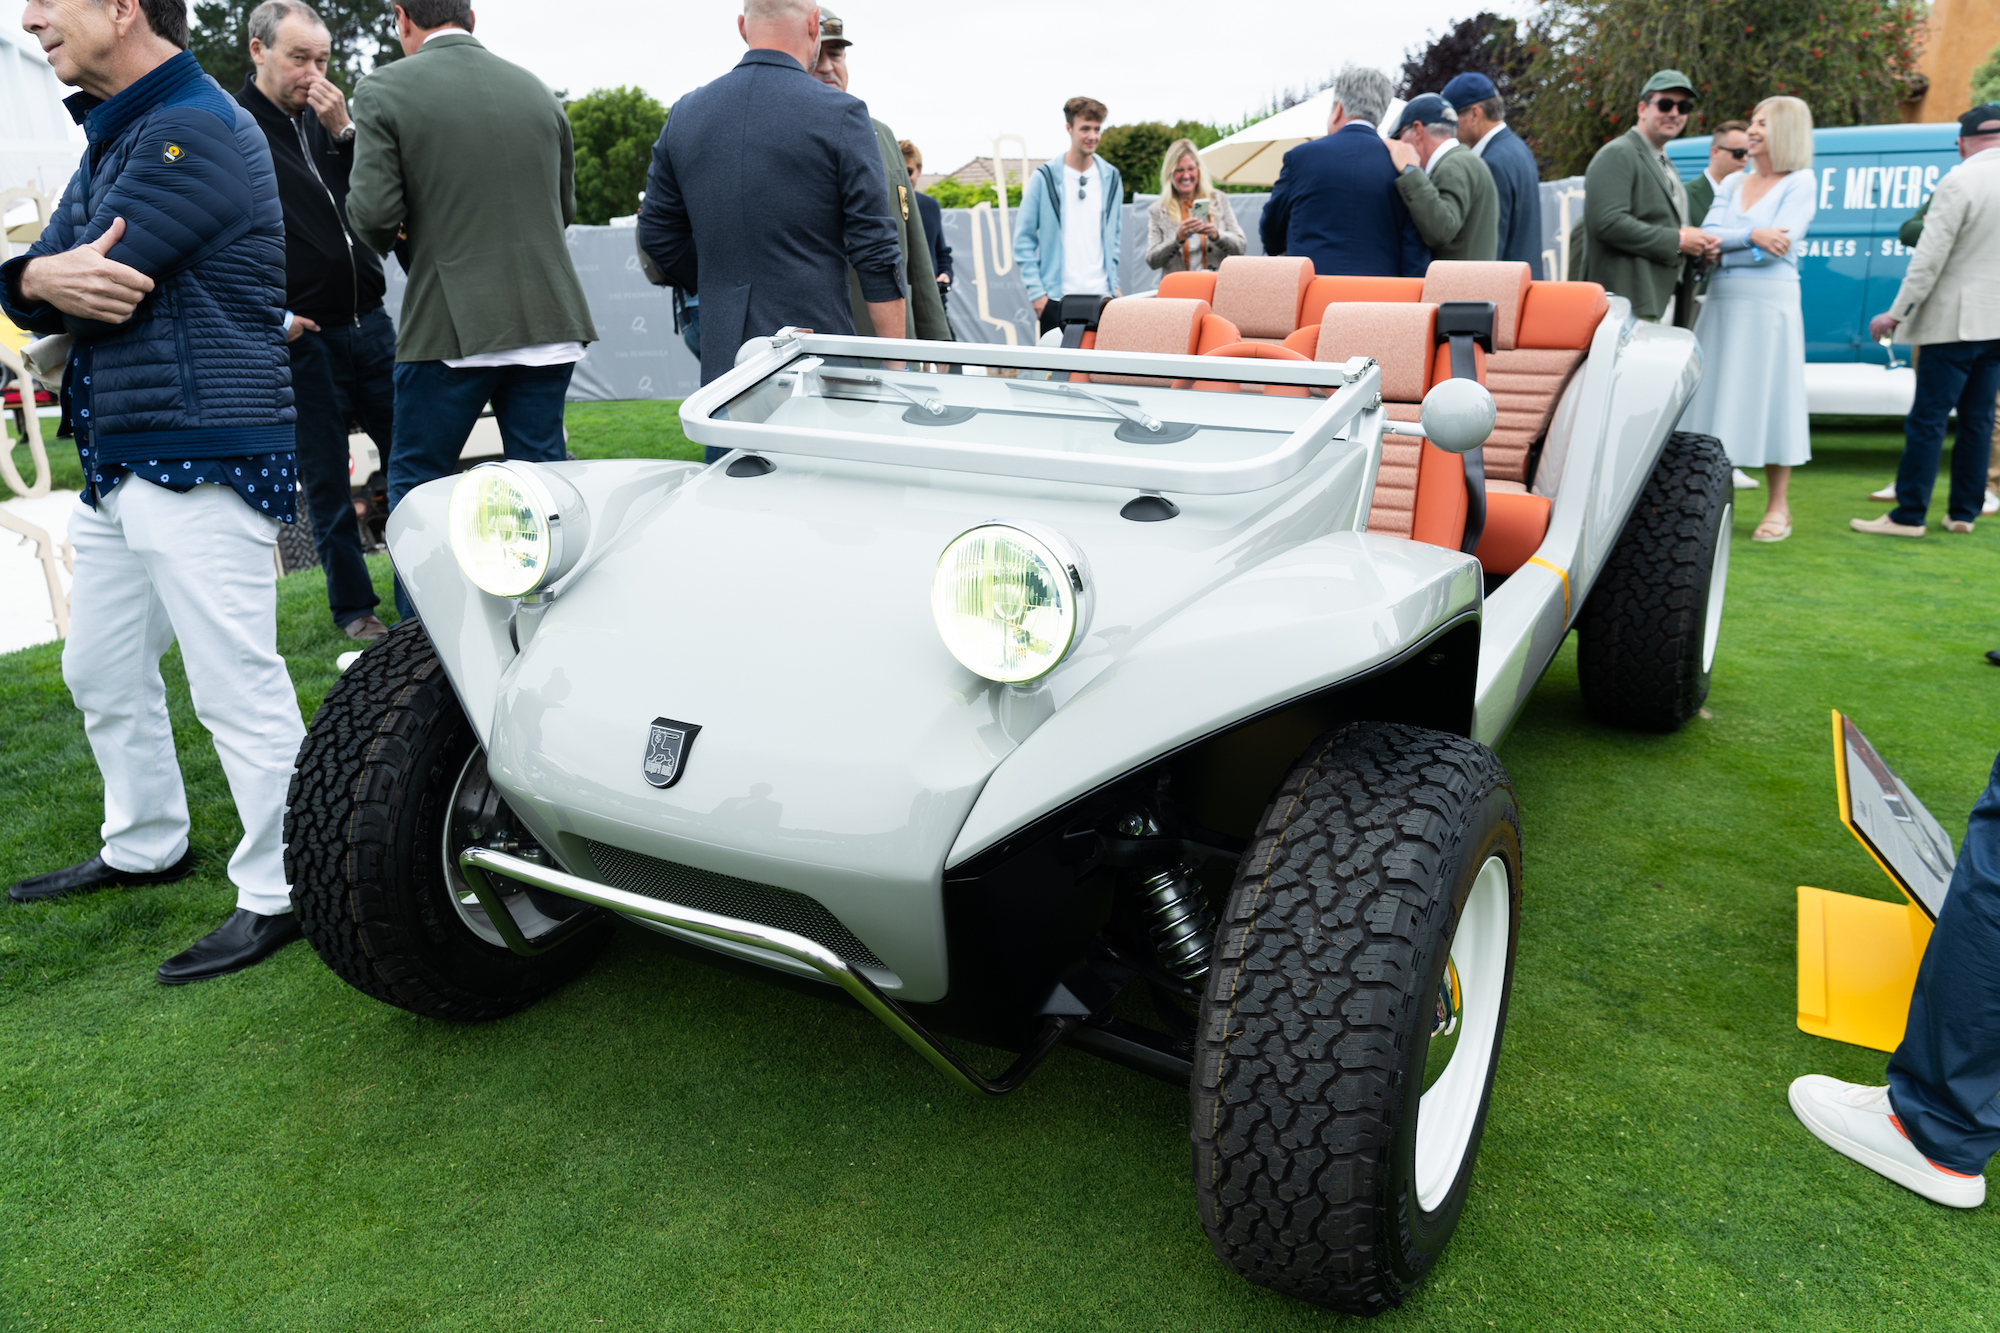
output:
[[[590,540],[582,496],[520,462],[482,462],[452,486],[452,554],[482,592],[526,596],[560,578]]]

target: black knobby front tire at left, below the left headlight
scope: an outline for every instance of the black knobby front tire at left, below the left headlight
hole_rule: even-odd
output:
[[[432,1019],[498,1019],[574,979],[588,929],[524,959],[454,907],[444,821],[476,737],[430,638],[406,620],[326,695],[292,773],[284,869],[306,939],[364,995]]]

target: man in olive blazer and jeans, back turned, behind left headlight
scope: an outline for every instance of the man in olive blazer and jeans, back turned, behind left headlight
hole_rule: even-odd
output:
[[[396,324],[388,502],[458,470],[492,402],[508,458],[564,456],[590,322],[564,228],[570,122],[540,78],[472,36],[466,0],[396,4],[406,60],[354,88],[348,224],[408,276]],[[414,608],[402,586],[396,604]]]

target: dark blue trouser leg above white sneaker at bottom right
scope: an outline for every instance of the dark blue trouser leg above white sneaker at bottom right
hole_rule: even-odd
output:
[[[1964,344],[1958,344],[1964,346]],[[1930,348],[1924,348],[1930,356]],[[1992,414],[1992,394],[1986,396]],[[1964,418],[1960,418],[1964,420]],[[1984,476],[1982,476],[1984,480]],[[2000,761],[1972,807],[1952,889],[1916,969],[1888,1097],[1930,1161],[1978,1175],[2000,1151]]]

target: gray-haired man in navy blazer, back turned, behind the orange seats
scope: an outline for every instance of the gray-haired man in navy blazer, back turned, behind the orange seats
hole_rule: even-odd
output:
[[[1320,274],[1420,278],[1430,250],[1396,192],[1396,164],[1376,124],[1388,112],[1380,70],[1334,80],[1326,138],[1284,154],[1258,232],[1266,254],[1304,254]]]

